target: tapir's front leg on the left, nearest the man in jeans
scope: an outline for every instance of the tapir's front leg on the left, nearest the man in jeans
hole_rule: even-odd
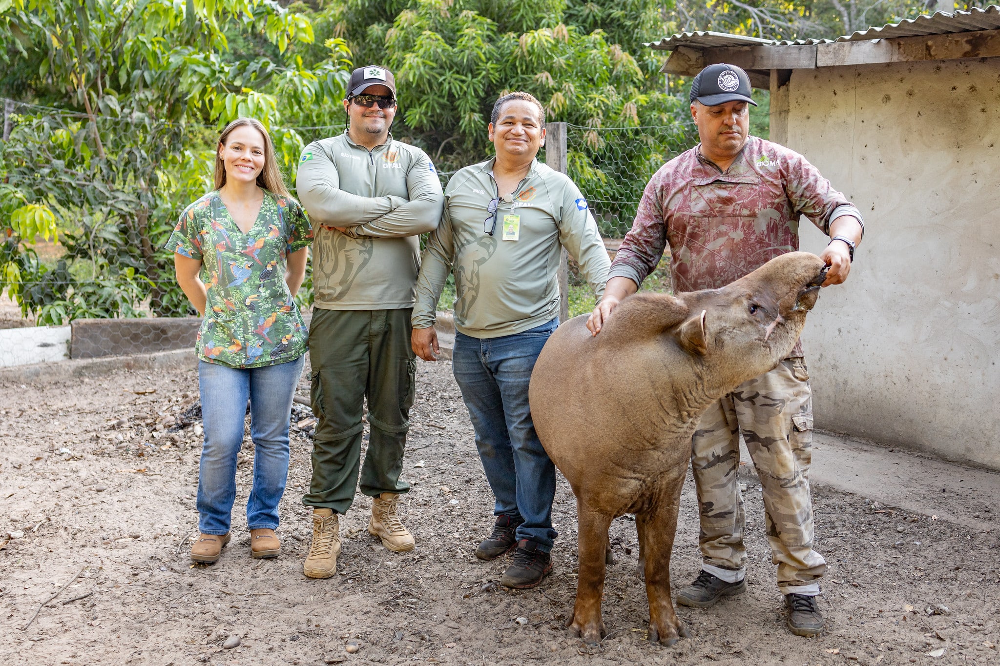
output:
[[[569,627],[584,643],[594,645],[607,634],[601,621],[601,595],[604,593],[604,562],[611,518],[589,509],[579,498],[576,512],[580,525],[579,577]]]

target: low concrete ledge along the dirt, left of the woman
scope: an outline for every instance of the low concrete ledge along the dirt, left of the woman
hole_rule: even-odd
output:
[[[0,386],[18,383],[60,381],[81,376],[106,374],[113,370],[159,370],[198,367],[194,349],[173,349],[127,356],[73,358],[53,363],[32,363],[0,368]]]

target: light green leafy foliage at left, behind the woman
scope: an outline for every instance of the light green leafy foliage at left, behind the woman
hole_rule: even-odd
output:
[[[0,288],[40,324],[189,312],[162,250],[181,208],[210,188],[217,128],[271,130],[293,170],[311,123],[343,98],[349,55],[326,40],[310,61],[308,17],[270,0],[0,0],[0,58],[13,131],[0,147]],[[266,45],[229,50],[231,36]],[[8,106],[9,108],[9,106]],[[26,221],[30,221],[30,224]],[[33,225],[33,226],[32,226]],[[31,250],[63,230],[53,269]]]

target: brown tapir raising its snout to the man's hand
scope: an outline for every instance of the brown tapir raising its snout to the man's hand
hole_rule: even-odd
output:
[[[791,351],[826,269],[815,255],[789,253],[722,289],[629,297],[596,336],[580,316],[546,342],[529,399],[538,436],[577,498],[568,625],[585,642],[605,635],[608,528],[625,513],[635,514],[645,561],[649,639],[671,645],[687,635],[669,568],[691,436],[713,400]]]

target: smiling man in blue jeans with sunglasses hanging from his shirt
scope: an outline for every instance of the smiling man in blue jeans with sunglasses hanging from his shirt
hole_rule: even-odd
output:
[[[496,497],[493,533],[476,549],[495,559],[516,548],[500,583],[538,585],[552,569],[555,467],[528,409],[528,381],[559,324],[560,249],[577,258],[600,298],[611,262],[579,189],[535,159],[545,111],[527,93],[493,106],[496,157],[462,169],[448,183],[441,224],[431,234],[417,279],[413,350],[437,357],[435,307],[455,275],[452,369],[476,431]]]

